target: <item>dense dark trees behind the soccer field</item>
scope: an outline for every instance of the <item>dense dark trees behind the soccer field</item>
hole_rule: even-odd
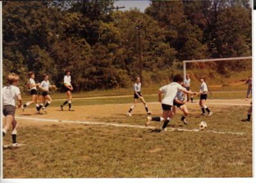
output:
[[[4,2],[4,74],[18,73],[24,85],[28,71],[37,81],[49,73],[60,86],[70,70],[76,91],[126,87],[139,73],[138,20],[147,82],[172,75],[184,59],[252,54],[248,0],[152,1],[145,13],[113,3]]]

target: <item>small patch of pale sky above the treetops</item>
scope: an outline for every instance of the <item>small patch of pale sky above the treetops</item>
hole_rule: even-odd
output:
[[[129,10],[130,8],[137,7],[140,11],[144,12],[144,10],[149,6],[150,1],[148,0],[127,0],[127,1],[115,1],[114,6],[125,6],[124,9],[120,10]]]

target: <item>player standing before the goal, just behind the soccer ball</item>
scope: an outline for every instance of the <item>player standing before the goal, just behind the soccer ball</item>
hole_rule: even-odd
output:
[[[208,92],[208,87],[207,84],[205,83],[205,78],[204,77],[200,77],[200,101],[199,101],[199,105],[201,107],[202,110],[202,115],[205,115],[205,110],[208,112],[208,116],[211,116],[213,114],[213,112],[211,112],[211,110],[208,108],[207,105],[205,105],[205,101],[207,100],[207,92]]]

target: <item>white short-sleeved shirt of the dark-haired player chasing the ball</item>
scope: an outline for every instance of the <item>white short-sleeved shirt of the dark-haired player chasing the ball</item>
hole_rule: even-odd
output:
[[[165,105],[173,105],[173,100],[177,95],[178,91],[184,89],[182,85],[178,84],[177,82],[172,82],[171,84],[164,85],[159,89],[164,94],[164,99],[162,103]]]

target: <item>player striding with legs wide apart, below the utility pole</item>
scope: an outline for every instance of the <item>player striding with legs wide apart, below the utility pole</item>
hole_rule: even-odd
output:
[[[126,113],[127,116],[132,116],[131,112],[132,109],[134,109],[134,107],[136,106],[136,103],[138,102],[138,99],[140,99],[140,101],[143,103],[143,105],[145,106],[145,110],[147,112],[147,114],[151,114],[152,112],[148,111],[148,106],[147,103],[145,101],[145,99],[143,98],[142,94],[141,94],[141,82],[140,82],[140,77],[136,78],[135,84],[133,85],[133,91],[134,91],[134,100],[133,100],[133,105],[131,106],[131,108],[129,109],[129,112]]]

